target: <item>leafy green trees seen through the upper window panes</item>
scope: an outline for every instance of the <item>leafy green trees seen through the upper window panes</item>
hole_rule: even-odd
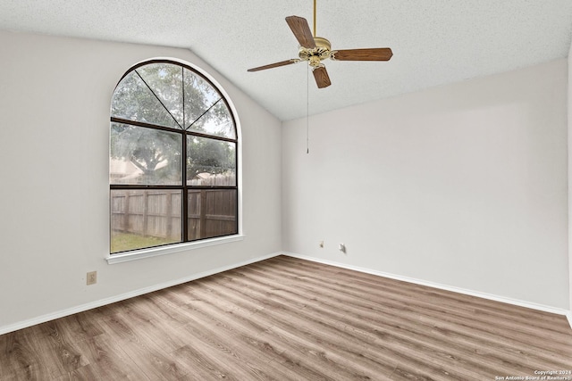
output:
[[[161,128],[235,137],[230,111],[218,91],[191,70],[156,62],[130,71],[115,89],[112,117]],[[135,184],[181,184],[184,134],[112,122],[111,156],[141,172]],[[234,172],[235,145],[207,137],[187,138],[187,178]]]

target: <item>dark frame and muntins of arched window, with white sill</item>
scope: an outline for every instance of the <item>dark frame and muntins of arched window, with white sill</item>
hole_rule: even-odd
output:
[[[156,64],[156,63],[166,63],[166,64],[172,64],[172,65],[179,66],[179,67],[181,67],[181,70],[183,73],[184,73],[185,69],[191,71],[194,75],[197,75],[199,78],[204,79],[206,81],[206,83],[208,83],[214,89],[214,91],[216,91],[218,93],[218,95],[220,96],[220,99],[218,101],[214,102],[214,104],[211,104],[206,109],[206,111],[203,112],[203,114],[201,114],[187,128],[185,128],[185,125],[181,126],[181,128],[171,128],[171,127],[161,126],[159,124],[153,124],[153,123],[148,123],[148,122],[139,121],[139,120],[127,120],[127,119],[122,119],[122,118],[110,115],[110,131],[111,131],[111,128],[113,128],[114,123],[120,123],[123,125],[134,126],[134,127],[138,127],[138,128],[150,128],[150,129],[158,130],[158,131],[166,131],[166,132],[170,132],[170,133],[176,133],[176,134],[179,134],[181,136],[181,185],[113,184],[112,180],[110,178],[110,180],[109,180],[109,192],[110,192],[110,199],[109,199],[110,235],[109,236],[110,236],[110,245],[109,245],[109,256],[107,257],[107,261],[110,264],[116,263],[116,262],[121,262],[121,261],[131,261],[133,259],[139,259],[139,258],[147,258],[147,257],[151,257],[151,256],[156,256],[156,255],[163,255],[166,253],[176,253],[176,252],[181,252],[181,251],[188,250],[188,249],[209,246],[212,244],[223,244],[223,243],[233,242],[233,241],[241,240],[243,237],[241,235],[241,232],[240,232],[240,229],[241,229],[240,209],[241,208],[240,208],[240,134],[239,134],[239,123],[238,123],[238,118],[235,115],[236,112],[234,110],[234,107],[232,106],[228,95],[226,95],[226,93],[223,91],[222,87],[218,86],[214,82],[214,79],[209,78],[209,76],[206,74],[206,72],[204,72],[203,70],[199,70],[198,68],[195,68],[194,66],[190,65],[189,63],[180,62],[180,61],[176,61],[176,60],[172,60],[172,59],[151,59],[151,60],[146,60],[146,61],[139,62],[139,63],[133,65],[132,67],[130,67],[129,70],[127,70],[122,75],[122,78],[119,79],[116,86],[114,87],[114,93],[112,95],[112,99],[113,99],[114,95],[116,94],[117,88],[122,83],[122,80],[125,79],[125,77],[127,77],[128,75],[130,75],[130,73],[132,73],[135,70],[138,70],[139,68],[141,68],[143,66],[150,65],[150,64]],[[165,110],[168,111],[168,109],[166,108],[163,101],[159,98],[159,96],[156,95],[155,91],[153,91],[153,89],[151,87],[149,87],[149,85],[147,84],[145,79],[143,79],[140,76],[139,72],[137,72],[137,75],[139,75],[139,78],[142,79],[143,82],[145,83],[145,85],[151,90],[153,95],[156,97],[157,101],[164,106]],[[182,79],[182,80],[184,81],[184,79]],[[184,85],[183,85],[183,88],[184,88]],[[221,137],[221,136],[217,136],[217,135],[210,135],[207,133],[197,132],[197,131],[194,131],[191,129],[192,124],[194,124],[197,120],[200,120],[202,118],[202,116],[206,114],[206,112],[209,112],[216,104],[218,104],[221,101],[226,106],[228,113],[230,115],[232,127],[233,127],[233,132],[234,132],[234,138]],[[182,110],[183,110],[183,121],[184,121],[185,120],[185,117],[184,117],[184,110],[185,110],[184,95],[183,95],[183,101],[182,102],[183,102]],[[112,112],[110,111],[110,114],[111,113]],[[169,114],[171,114],[171,112],[169,112]],[[228,142],[228,143],[231,143],[234,145],[234,171],[235,171],[235,176],[234,176],[234,184],[233,185],[231,185],[231,186],[229,186],[229,185],[213,186],[213,185],[190,185],[189,184],[189,182],[188,182],[189,179],[187,178],[187,158],[188,158],[188,151],[187,151],[188,143],[187,142],[188,142],[189,137],[203,137],[203,138],[207,138],[207,139],[212,139],[212,140],[217,141],[217,142]],[[110,141],[110,148],[111,148],[111,141]],[[111,152],[110,152],[109,157],[111,160]],[[191,190],[191,189],[234,190],[235,191],[235,196],[234,196],[235,197],[235,205],[234,205],[235,219],[234,219],[234,228],[233,228],[234,232],[233,233],[222,234],[220,236],[206,236],[206,237],[200,237],[200,238],[189,240],[189,215],[190,215],[190,213],[189,213],[189,190]],[[181,241],[175,242],[175,243],[169,243],[169,244],[159,244],[159,245],[154,245],[154,246],[147,246],[144,248],[137,248],[137,249],[131,249],[131,250],[125,250],[125,251],[113,253],[112,247],[111,247],[111,243],[112,243],[111,237],[113,234],[112,193],[114,190],[180,190],[181,191]]]

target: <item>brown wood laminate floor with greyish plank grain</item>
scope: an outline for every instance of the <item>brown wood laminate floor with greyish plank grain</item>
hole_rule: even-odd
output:
[[[0,335],[0,379],[10,381],[499,380],[542,371],[572,380],[563,316],[285,256]]]

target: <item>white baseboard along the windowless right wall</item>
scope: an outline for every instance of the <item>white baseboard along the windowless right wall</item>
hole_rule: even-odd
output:
[[[318,263],[324,263],[326,265],[331,265],[331,266],[339,267],[342,269],[352,269],[355,271],[364,272],[364,273],[376,275],[379,277],[389,277],[391,279],[402,280],[402,281],[405,281],[408,283],[413,283],[413,284],[421,285],[421,286],[429,286],[429,287],[433,287],[433,288],[438,288],[438,289],[445,290],[445,291],[451,291],[453,293],[467,294],[467,295],[476,296],[476,297],[483,298],[483,299],[492,300],[495,302],[504,302],[504,303],[508,303],[508,304],[512,304],[512,305],[517,305],[520,307],[530,308],[530,309],[537,310],[537,311],[544,311],[544,312],[550,312],[550,313],[554,313],[554,314],[558,314],[558,315],[565,315],[568,318],[568,322],[570,323],[570,327],[572,327],[572,311],[563,310],[563,309],[559,309],[556,307],[551,307],[551,306],[547,306],[547,305],[543,305],[543,304],[537,304],[534,302],[520,301],[517,299],[508,298],[505,296],[486,294],[486,293],[481,293],[478,291],[467,290],[465,288],[459,288],[459,287],[454,287],[454,286],[445,286],[445,285],[441,285],[439,283],[428,282],[428,281],[416,279],[413,277],[402,277],[400,275],[386,273],[383,271],[360,268],[357,266],[347,265],[347,264],[344,264],[341,262],[322,260],[322,259],[315,258],[315,257],[309,257],[307,255],[300,255],[297,253],[282,253],[282,254],[293,257],[293,258],[299,258],[301,260],[315,261]]]

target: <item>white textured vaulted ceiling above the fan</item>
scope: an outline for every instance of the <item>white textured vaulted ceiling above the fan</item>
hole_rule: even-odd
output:
[[[332,62],[315,87],[284,21],[313,1],[0,0],[0,29],[189,48],[281,120],[566,57],[571,0],[318,0],[332,49],[386,47],[390,62]],[[308,102],[309,98],[309,102]]]

